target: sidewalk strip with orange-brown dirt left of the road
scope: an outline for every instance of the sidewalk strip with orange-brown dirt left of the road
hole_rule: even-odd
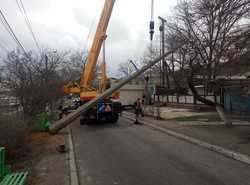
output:
[[[48,133],[49,134],[49,133]],[[35,185],[69,185],[70,161],[69,161],[69,130],[62,129],[55,135],[48,135],[44,157],[35,166]],[[61,153],[59,144],[65,146]]]

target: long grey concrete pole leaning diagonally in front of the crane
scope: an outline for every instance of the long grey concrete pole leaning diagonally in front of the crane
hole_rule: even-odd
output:
[[[157,62],[159,62],[164,57],[168,56],[169,54],[171,54],[172,52],[174,52],[175,50],[177,50],[178,48],[180,48],[184,44],[185,43],[180,44],[176,48],[171,49],[167,53],[165,53],[165,54],[161,55],[160,57],[156,58],[155,60],[151,61],[149,64],[147,64],[146,66],[142,67],[141,69],[139,69],[135,73],[131,74],[127,78],[121,80],[120,82],[118,82],[117,84],[115,84],[110,89],[106,90],[105,92],[103,92],[99,96],[95,97],[94,99],[90,100],[86,104],[82,105],[81,107],[79,107],[78,109],[76,109],[74,112],[72,112],[72,113],[68,114],[67,116],[65,116],[64,118],[58,120],[57,122],[55,122],[54,124],[52,124],[49,127],[50,133],[51,134],[57,133],[62,128],[66,127],[70,122],[72,122],[73,120],[75,120],[79,116],[81,116],[84,112],[86,112],[92,106],[96,105],[98,102],[100,102],[100,101],[104,100],[105,98],[107,98],[109,95],[111,95],[112,93],[114,93],[115,91],[117,91],[118,89],[120,89],[122,86],[124,86],[125,84],[127,84],[128,82],[130,82],[132,79],[134,79],[137,76],[139,76],[140,74],[142,74],[144,71],[146,71],[147,69],[149,69],[150,67],[152,67],[153,65],[155,65]]]

